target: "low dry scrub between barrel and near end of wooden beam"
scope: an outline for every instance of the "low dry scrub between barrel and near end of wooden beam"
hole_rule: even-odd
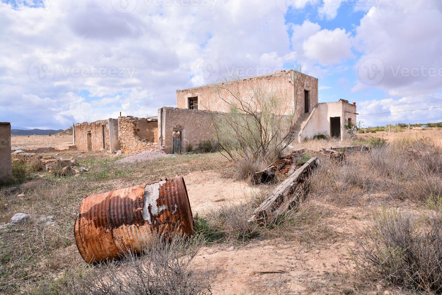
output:
[[[197,218],[196,232],[207,243],[247,242],[252,238],[309,241],[328,236],[326,226],[321,223],[328,211],[308,200],[301,200],[294,206],[282,204],[280,208],[285,209],[278,216],[248,222],[267,195],[267,192],[262,192],[249,196],[243,202],[227,203],[209,210],[205,217]]]

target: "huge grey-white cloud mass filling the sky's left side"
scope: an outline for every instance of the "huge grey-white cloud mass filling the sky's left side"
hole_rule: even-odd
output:
[[[175,105],[176,89],[293,62],[273,1],[200,2],[137,1],[128,13],[115,8],[119,1],[0,5],[0,117],[58,128],[120,111],[156,115]],[[201,71],[213,68],[199,61],[217,65],[210,79]]]

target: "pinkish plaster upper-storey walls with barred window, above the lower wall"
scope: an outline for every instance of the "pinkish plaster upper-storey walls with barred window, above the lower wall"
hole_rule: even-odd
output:
[[[304,113],[304,90],[310,91],[310,110],[318,103],[318,79],[291,70],[267,76],[177,90],[177,107],[187,109],[188,98],[198,96],[199,110],[228,112],[229,103],[226,103],[225,100],[235,101],[229,92],[235,95],[239,94],[242,100],[250,102],[257,90],[278,98],[280,105],[278,115],[289,115],[293,112],[296,113],[297,118],[302,115]]]

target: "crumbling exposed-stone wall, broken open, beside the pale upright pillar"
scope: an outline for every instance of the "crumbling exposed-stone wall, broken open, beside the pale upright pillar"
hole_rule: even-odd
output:
[[[147,119],[132,116],[119,117],[118,129],[121,153],[133,155],[144,151],[161,151],[161,146],[157,142],[150,142],[149,139],[152,139],[152,137],[147,136],[147,134],[153,132],[152,125],[157,126],[157,124],[156,122],[154,124],[147,124]]]

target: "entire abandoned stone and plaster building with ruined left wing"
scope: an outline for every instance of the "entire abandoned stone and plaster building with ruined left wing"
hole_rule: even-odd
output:
[[[228,112],[239,101],[251,103],[257,93],[278,98],[276,115],[293,115],[290,140],[301,142],[317,134],[343,139],[345,125],[356,123],[356,104],[347,100],[318,103],[318,79],[294,70],[176,91],[177,107],[161,107],[158,116],[100,120],[73,126],[78,150],[120,150],[135,154],[145,150],[186,152],[213,138],[211,112]]]

